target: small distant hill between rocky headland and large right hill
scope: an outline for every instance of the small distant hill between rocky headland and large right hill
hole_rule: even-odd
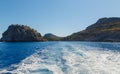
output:
[[[58,37],[52,33],[47,33],[43,36],[44,39],[47,39],[48,41],[60,41],[62,37]]]

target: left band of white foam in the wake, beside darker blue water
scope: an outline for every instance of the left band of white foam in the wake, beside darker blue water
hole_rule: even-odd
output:
[[[51,47],[50,47],[51,48]],[[54,58],[51,55],[56,55],[56,53],[51,53],[52,51],[44,49],[42,51],[37,51],[35,54],[24,59],[19,65],[17,70],[12,71],[12,73],[17,74],[64,74],[61,71],[61,68],[52,61],[51,58]],[[43,55],[39,55],[42,53]],[[47,56],[47,57],[46,57]],[[47,59],[43,60],[42,58],[46,57]],[[50,60],[51,59],[51,60]]]

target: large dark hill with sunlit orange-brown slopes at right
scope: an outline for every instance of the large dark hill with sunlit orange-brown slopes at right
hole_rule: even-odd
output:
[[[120,18],[101,18],[85,30],[73,33],[62,40],[120,42]]]

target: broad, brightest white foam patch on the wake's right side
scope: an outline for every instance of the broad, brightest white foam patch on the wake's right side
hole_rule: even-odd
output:
[[[68,74],[120,74],[119,52],[103,51],[95,47],[87,47],[89,50],[86,50],[81,47],[73,46],[73,52],[68,49],[63,51]]]

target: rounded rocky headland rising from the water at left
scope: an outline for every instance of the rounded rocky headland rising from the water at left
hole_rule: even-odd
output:
[[[29,42],[44,41],[41,34],[36,30],[24,25],[10,25],[2,34],[1,41],[4,42]]]

